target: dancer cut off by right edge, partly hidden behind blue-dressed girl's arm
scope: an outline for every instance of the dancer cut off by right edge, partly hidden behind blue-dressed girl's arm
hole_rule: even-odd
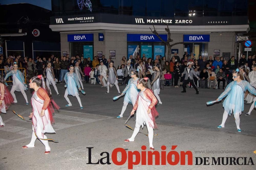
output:
[[[250,79],[250,84],[254,88],[256,88],[256,64],[252,65],[252,71],[249,73],[249,79]],[[253,96],[251,93],[249,93],[244,100],[247,100],[247,103],[252,102],[249,112],[245,114],[246,116],[248,116],[251,114],[252,110],[254,109],[254,103],[256,101],[256,97]]]

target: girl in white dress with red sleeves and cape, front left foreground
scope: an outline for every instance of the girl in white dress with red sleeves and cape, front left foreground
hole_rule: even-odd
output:
[[[38,138],[45,146],[45,154],[49,154],[51,151],[49,142],[48,140],[42,139],[47,139],[45,133],[55,133],[55,130],[51,126],[54,123],[54,119],[52,117],[53,109],[50,102],[53,102],[57,109],[59,109],[59,106],[50,99],[50,92],[45,88],[44,77],[42,75],[32,77],[29,87],[35,90],[31,97],[33,112],[29,116],[32,118],[33,132],[30,143],[22,148],[35,147],[35,141]]]

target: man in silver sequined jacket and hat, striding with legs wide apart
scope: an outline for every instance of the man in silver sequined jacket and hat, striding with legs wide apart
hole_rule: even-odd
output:
[[[185,79],[182,84],[183,91],[181,93],[186,93],[186,85],[189,82],[192,84],[192,86],[196,90],[196,94],[199,94],[197,86],[195,85],[195,82],[193,79],[193,75],[197,78],[197,80],[200,80],[200,78],[196,75],[196,72],[194,71],[194,69],[191,66],[192,66],[192,62],[188,62],[187,68],[185,68],[184,72],[181,74],[182,77],[185,74]]]

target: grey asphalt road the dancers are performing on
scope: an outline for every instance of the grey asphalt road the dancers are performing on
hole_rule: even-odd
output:
[[[127,169],[128,160],[123,165],[113,163],[112,153],[115,148],[126,149],[126,153],[139,151],[141,154],[141,146],[145,145],[146,151],[149,150],[148,138],[143,134],[138,134],[134,142],[123,142],[132,135],[132,130],[124,126],[132,106],[127,107],[123,118],[115,118],[121,112],[123,104],[123,98],[112,100],[118,95],[115,86],[110,88],[109,94],[105,94],[106,88],[101,88],[100,85],[84,84],[86,95],[80,93],[84,107],[82,110],[77,99],[72,96],[69,96],[72,106],[65,107],[67,101],[63,97],[64,84],[57,84],[57,87],[61,96],[57,96],[53,88],[52,93],[61,109],[54,115],[56,123],[53,127],[56,134],[47,134],[47,137],[56,139],[59,143],[50,142],[51,153],[48,155],[44,155],[45,148],[39,140],[34,148],[22,149],[22,146],[30,142],[31,124],[11,111],[1,114],[5,126],[0,129],[0,169]],[[120,90],[123,89],[124,86],[120,86]],[[177,145],[175,151],[179,154],[181,151],[191,151],[193,165],[180,165],[180,161],[174,166],[168,162],[167,165],[141,165],[140,162],[133,168],[255,169],[253,165],[211,165],[211,157],[247,157],[246,163],[251,157],[253,163],[256,163],[256,154],[253,153],[256,149],[256,111],[245,116],[244,113],[250,107],[245,105],[245,112],[240,116],[241,133],[237,132],[233,116],[228,117],[225,128],[218,129],[223,114],[222,104],[206,106],[206,101],[215,100],[223,90],[199,89],[199,95],[195,94],[193,88],[187,88],[185,94],[180,91],[181,87],[161,90],[159,96],[163,104],[156,107],[159,117],[156,119],[158,129],[155,133],[158,135],[154,137],[153,144],[159,152],[162,151],[162,145],[167,147],[167,153],[172,150],[173,145]],[[28,98],[31,98],[31,92],[27,91]],[[20,92],[15,94],[18,103],[13,104],[10,109],[27,118],[31,105],[25,105]],[[128,124],[134,128],[135,117]],[[147,134],[146,128],[141,128],[141,132]],[[88,147],[93,147],[91,154]],[[109,153],[111,164],[87,164],[90,156],[92,163],[106,156],[106,153],[101,156],[101,152]],[[118,161],[124,159],[120,152],[117,157]],[[195,165],[195,157],[209,157],[210,165]],[[135,160],[135,156],[133,158]],[[106,158],[103,162],[106,162]]]

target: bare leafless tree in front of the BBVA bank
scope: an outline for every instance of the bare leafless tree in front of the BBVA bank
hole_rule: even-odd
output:
[[[167,28],[165,28],[165,31],[167,32],[167,41],[164,41],[162,37],[159,36],[159,34],[157,33],[156,29],[155,29],[155,26],[153,25],[154,27],[154,31],[150,28],[151,32],[153,34],[155,34],[163,43],[166,44],[167,48],[168,48],[168,51],[167,51],[167,58],[171,58],[171,49],[172,49],[172,46],[174,45],[177,45],[177,44],[183,44],[183,42],[178,42],[178,43],[174,43],[174,44],[170,44],[171,42],[173,42],[173,40],[171,39],[171,33],[170,33],[170,29],[168,27],[168,24],[166,24]],[[166,59],[167,59],[166,58]]]

